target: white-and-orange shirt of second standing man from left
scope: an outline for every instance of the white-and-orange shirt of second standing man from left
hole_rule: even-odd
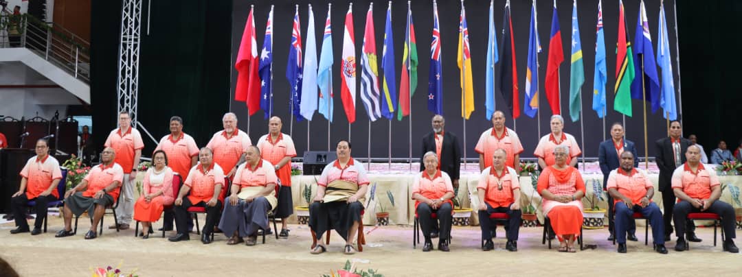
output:
[[[191,170],[191,158],[198,156],[196,141],[188,134],[181,134],[180,138],[174,139],[173,135],[163,136],[160,144],[154,149],[165,151],[168,156],[168,167],[180,174],[181,178],[188,176]]]

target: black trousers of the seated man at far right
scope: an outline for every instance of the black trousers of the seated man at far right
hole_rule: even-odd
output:
[[[675,204],[675,210],[672,212],[672,217],[675,221],[675,228],[677,229],[675,236],[678,238],[683,238],[683,235],[686,233],[686,221],[693,222],[692,220],[687,220],[689,213],[706,212],[715,213],[721,217],[721,227],[724,228],[726,239],[737,237],[735,234],[735,208],[729,203],[717,200],[711,204],[708,210],[702,212],[699,208],[693,207],[689,201],[683,200]]]

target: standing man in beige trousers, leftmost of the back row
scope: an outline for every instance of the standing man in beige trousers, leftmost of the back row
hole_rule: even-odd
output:
[[[128,112],[119,113],[119,127],[108,134],[104,145],[114,148],[116,151],[114,162],[121,166],[126,175],[121,187],[124,193],[124,198],[121,199],[123,202],[116,207],[119,229],[126,230],[131,223],[131,217],[134,216],[134,201],[137,200],[134,199],[134,179],[137,178],[139,157],[142,156],[142,148],[144,148],[142,135],[131,127],[131,116]],[[108,229],[116,229],[116,225],[111,225]]]

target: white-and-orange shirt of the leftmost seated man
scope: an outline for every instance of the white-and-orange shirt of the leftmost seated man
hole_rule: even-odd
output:
[[[21,170],[21,176],[27,180],[26,198],[33,199],[48,190],[54,180],[62,179],[62,170],[59,169],[59,161],[52,156],[47,155],[43,159],[33,156],[26,161],[26,165]],[[51,191],[51,195],[59,198],[59,191],[56,187]]]

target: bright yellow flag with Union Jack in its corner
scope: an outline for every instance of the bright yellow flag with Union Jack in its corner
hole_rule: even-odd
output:
[[[459,17],[459,83],[462,88],[462,118],[469,119],[474,111],[474,82],[471,78],[471,53],[469,51],[469,29],[466,25],[466,10],[462,1],[462,13]]]

